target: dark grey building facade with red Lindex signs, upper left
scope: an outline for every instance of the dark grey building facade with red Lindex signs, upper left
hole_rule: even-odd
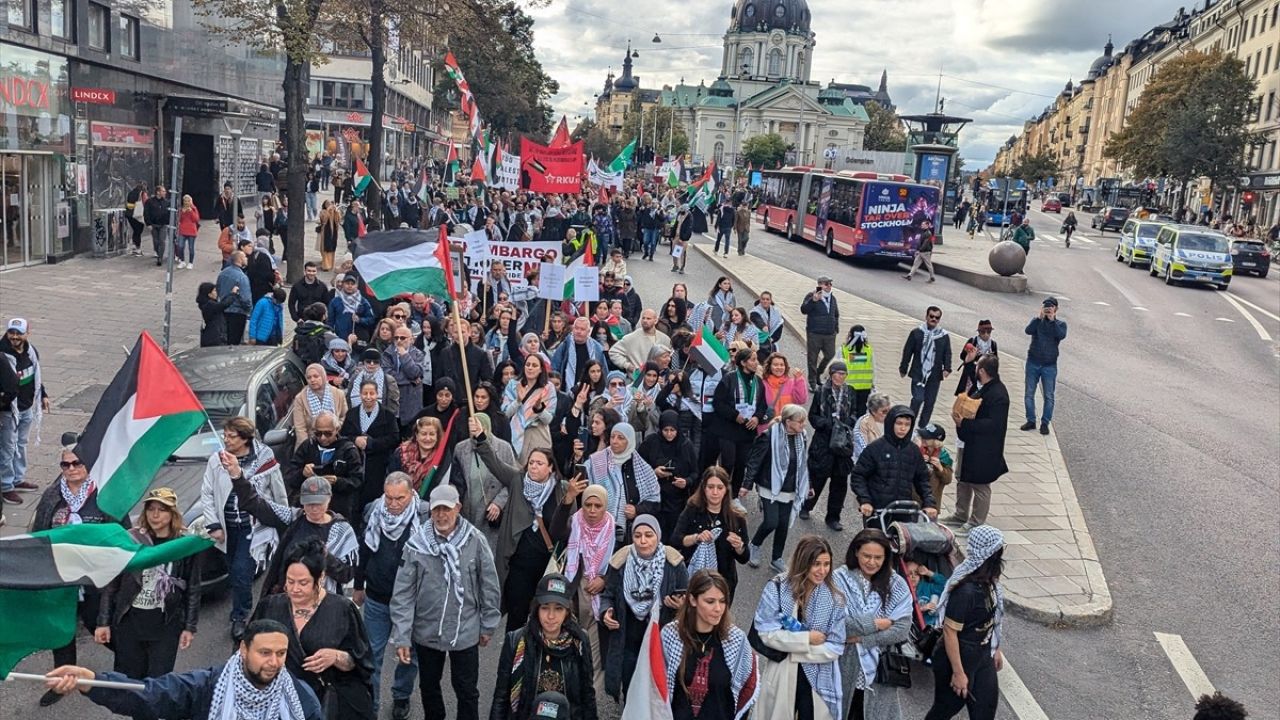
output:
[[[214,37],[191,3],[6,5],[0,268],[122,251],[128,192],[173,182],[178,118],[182,191],[201,214],[224,179],[253,195],[257,161],[279,137],[279,56]]]

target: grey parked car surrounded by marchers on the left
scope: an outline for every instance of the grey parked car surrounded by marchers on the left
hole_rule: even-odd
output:
[[[228,418],[253,419],[259,438],[280,464],[293,456],[293,398],[306,387],[302,360],[287,347],[197,347],[173,356],[173,364],[196,392],[209,423],[182,443],[151,480],[172,487],[182,501],[188,524],[200,518],[200,486],[209,456],[221,447],[221,424]],[[216,429],[216,434],[215,434]],[[204,552],[201,589],[216,593],[227,587],[227,559],[218,548]]]

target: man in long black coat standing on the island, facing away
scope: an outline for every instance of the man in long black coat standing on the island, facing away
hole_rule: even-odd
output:
[[[1005,432],[1009,425],[1009,391],[1000,379],[1000,357],[978,359],[977,383],[969,397],[980,401],[973,418],[952,414],[956,436],[964,443],[956,461],[956,510],[946,520],[972,532],[987,524],[991,484],[1009,471],[1005,464]]]

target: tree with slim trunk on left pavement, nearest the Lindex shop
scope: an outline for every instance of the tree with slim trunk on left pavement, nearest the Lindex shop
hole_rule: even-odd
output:
[[[285,282],[302,279],[306,234],[306,77],[325,61],[321,31],[329,27],[326,0],[192,0],[201,24],[211,33],[259,53],[284,54],[284,142],[289,154],[285,195],[289,206]]]

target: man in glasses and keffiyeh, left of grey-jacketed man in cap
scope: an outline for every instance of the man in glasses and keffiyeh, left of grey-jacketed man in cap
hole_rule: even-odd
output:
[[[360,538],[360,564],[356,565],[353,600],[364,610],[369,646],[374,652],[374,688],[381,689],[383,656],[392,637],[392,593],[404,544],[419,528],[431,521],[426,502],[413,493],[412,479],[406,473],[392,473],[383,483],[383,496],[365,507],[365,533]],[[408,698],[413,694],[417,657],[396,664],[392,682],[393,720],[408,717]],[[374,693],[374,715],[379,696]]]

